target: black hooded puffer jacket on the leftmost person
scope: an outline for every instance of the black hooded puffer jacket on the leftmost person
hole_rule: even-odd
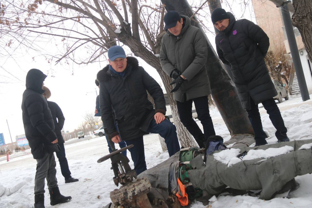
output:
[[[54,123],[51,111],[46,99],[42,96],[44,92],[42,82],[46,75],[38,69],[31,69],[26,76],[26,90],[22,99],[22,119],[26,138],[32,149],[34,159],[40,159],[43,151],[56,152],[58,145],[52,144],[56,140]]]

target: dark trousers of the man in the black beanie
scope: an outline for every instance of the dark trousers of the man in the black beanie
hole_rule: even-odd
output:
[[[277,107],[273,98],[264,100],[261,102],[266,113],[269,114],[269,118],[276,128],[275,136],[278,140],[287,138],[287,128],[285,127],[283,118],[280,114],[280,109]],[[261,117],[258,109],[258,104],[255,104],[252,98],[250,98],[251,109],[246,110],[251,126],[255,133],[256,144],[266,144],[266,133],[263,131]]]

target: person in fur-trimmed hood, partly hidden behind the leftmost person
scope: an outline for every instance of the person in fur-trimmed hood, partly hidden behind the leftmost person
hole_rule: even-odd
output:
[[[44,93],[42,95],[44,98],[46,98],[48,106],[51,110],[51,114],[52,114],[52,118],[54,122],[54,128],[55,128],[54,132],[56,133],[56,136],[57,136],[57,141],[58,141],[57,144],[60,146],[60,151],[55,152],[55,153],[56,153],[56,157],[59,160],[61,173],[65,178],[65,183],[79,181],[79,179],[71,177],[71,171],[69,170],[68,162],[66,159],[64,139],[61,133],[61,130],[65,122],[65,117],[63,115],[63,112],[61,108],[58,106],[58,104],[48,100],[51,96],[50,89],[47,88],[46,86],[43,86],[42,89],[44,90]]]

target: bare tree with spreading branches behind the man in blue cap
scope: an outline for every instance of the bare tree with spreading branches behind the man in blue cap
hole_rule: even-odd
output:
[[[135,56],[159,73],[168,93],[181,145],[196,144],[188,139],[192,136],[178,118],[176,104],[169,93],[171,79],[161,69],[157,56],[164,34],[164,7],[160,1],[148,4],[144,0],[12,0],[3,5],[2,19],[6,21],[0,24],[15,34],[29,34],[28,46],[36,48],[33,43],[38,38],[54,39],[63,46],[65,52],[46,55],[49,62],[88,64],[103,61],[111,46],[128,46]],[[22,42],[20,40],[12,38],[14,43]]]

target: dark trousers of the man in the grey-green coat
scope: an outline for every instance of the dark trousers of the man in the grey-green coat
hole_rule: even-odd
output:
[[[197,112],[197,119],[202,123],[202,130],[200,130],[199,126],[193,119],[192,115],[192,105],[193,102],[195,104],[195,109]],[[209,114],[209,106],[208,106],[208,97],[203,96],[199,98],[190,99],[185,102],[177,101],[178,113],[180,117],[180,121],[183,125],[188,129],[188,131],[193,135],[197,144],[200,148],[204,147],[204,142],[206,139],[212,135],[216,135],[216,132],[213,128],[212,119]]]

